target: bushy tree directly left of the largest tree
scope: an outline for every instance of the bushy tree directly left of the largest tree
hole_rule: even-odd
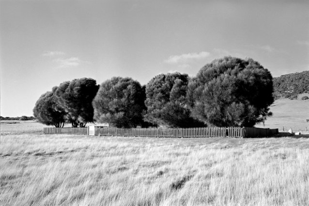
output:
[[[146,85],[147,113],[144,119],[167,127],[201,127],[203,124],[190,117],[186,105],[187,74],[159,74]]]

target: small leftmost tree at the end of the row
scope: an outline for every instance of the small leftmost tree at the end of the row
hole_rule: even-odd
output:
[[[44,125],[54,125],[55,127],[63,127],[66,112],[59,105],[58,98],[55,95],[57,87],[51,92],[46,92],[36,101],[33,108],[33,115],[38,122]]]

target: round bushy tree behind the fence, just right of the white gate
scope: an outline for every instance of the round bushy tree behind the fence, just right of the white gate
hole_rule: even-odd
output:
[[[114,127],[144,125],[145,92],[138,81],[114,77],[104,81],[93,99],[94,119]]]

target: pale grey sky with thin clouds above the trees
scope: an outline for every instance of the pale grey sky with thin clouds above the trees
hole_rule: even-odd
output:
[[[0,0],[0,115],[77,78],[147,84],[227,55],[309,70],[308,0]]]

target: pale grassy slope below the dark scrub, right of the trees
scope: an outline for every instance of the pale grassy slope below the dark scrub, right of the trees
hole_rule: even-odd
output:
[[[309,100],[301,100],[301,97],[306,95],[309,96],[302,94],[294,100],[287,98],[276,100],[270,107],[273,116],[267,118],[264,126],[259,124],[256,127],[279,128],[280,131],[283,127],[285,131],[290,128],[293,131],[306,131],[307,127],[309,131],[309,124],[306,122],[306,119],[309,119]]]

